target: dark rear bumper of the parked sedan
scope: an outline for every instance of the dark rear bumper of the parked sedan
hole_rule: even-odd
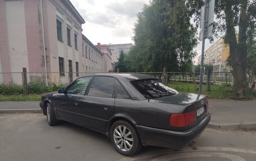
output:
[[[198,123],[198,125],[186,131],[170,131],[158,128],[136,125],[140,134],[141,142],[144,146],[162,146],[167,148],[184,148],[196,137],[200,136],[211,119],[211,114]]]

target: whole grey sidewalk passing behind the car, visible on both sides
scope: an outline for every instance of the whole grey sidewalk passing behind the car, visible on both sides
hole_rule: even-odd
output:
[[[209,128],[232,130],[256,128],[256,100],[214,100],[209,99],[212,115]],[[39,102],[0,102],[0,113],[41,113]]]

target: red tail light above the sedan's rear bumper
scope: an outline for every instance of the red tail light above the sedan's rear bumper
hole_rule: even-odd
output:
[[[174,127],[189,126],[195,122],[195,112],[172,113],[170,116],[170,125]]]

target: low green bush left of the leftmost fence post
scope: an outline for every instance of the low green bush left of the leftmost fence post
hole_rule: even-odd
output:
[[[0,95],[20,95],[23,93],[23,88],[17,84],[0,84]]]

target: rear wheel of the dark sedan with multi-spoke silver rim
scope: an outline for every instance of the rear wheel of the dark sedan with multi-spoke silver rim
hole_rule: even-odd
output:
[[[142,148],[138,132],[126,121],[120,120],[113,123],[110,139],[118,153],[128,157],[135,155]]]

